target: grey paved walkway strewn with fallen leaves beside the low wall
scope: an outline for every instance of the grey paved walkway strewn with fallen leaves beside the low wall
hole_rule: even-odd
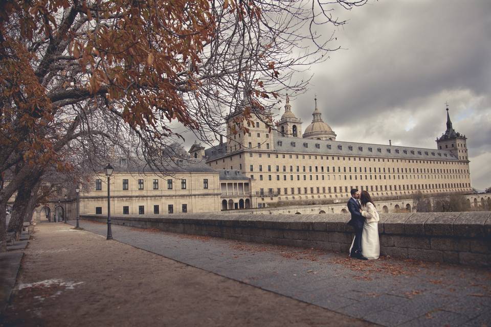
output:
[[[71,222],[74,224],[74,222]],[[106,225],[82,221],[106,234]],[[113,238],[167,258],[386,326],[491,325],[491,272],[113,225]]]

